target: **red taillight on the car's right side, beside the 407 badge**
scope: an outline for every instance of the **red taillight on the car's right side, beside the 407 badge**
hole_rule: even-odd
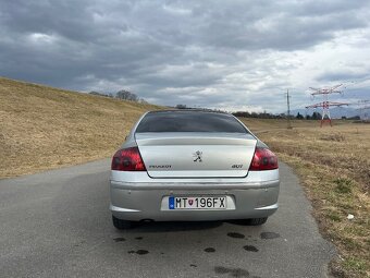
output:
[[[278,157],[268,148],[257,147],[249,171],[263,171],[278,169]]]

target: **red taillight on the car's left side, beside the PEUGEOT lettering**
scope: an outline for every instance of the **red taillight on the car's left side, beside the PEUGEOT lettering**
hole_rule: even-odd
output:
[[[113,156],[111,169],[116,171],[146,171],[137,147],[118,150]]]

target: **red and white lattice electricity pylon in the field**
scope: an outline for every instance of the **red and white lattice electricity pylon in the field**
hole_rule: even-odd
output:
[[[325,122],[329,122],[330,125],[332,126],[332,118],[330,117],[330,110],[329,110],[329,108],[331,106],[337,106],[337,107],[348,106],[348,104],[344,104],[344,102],[332,102],[332,101],[329,101],[329,95],[330,94],[342,94],[343,93],[343,90],[338,89],[343,84],[338,84],[338,85],[335,85],[335,86],[329,87],[329,88],[312,88],[312,87],[309,87],[311,90],[313,90],[313,93],[311,93],[312,97],[316,97],[318,95],[322,95],[323,96],[323,101],[322,102],[310,105],[310,106],[306,106],[306,109],[322,107],[322,118],[321,118],[321,121],[320,121],[320,126],[322,126],[323,123],[325,123]]]

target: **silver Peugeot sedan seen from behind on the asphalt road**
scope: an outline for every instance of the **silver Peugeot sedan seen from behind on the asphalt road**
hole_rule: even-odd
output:
[[[112,159],[113,225],[242,220],[262,225],[278,209],[276,156],[223,112],[145,113]]]

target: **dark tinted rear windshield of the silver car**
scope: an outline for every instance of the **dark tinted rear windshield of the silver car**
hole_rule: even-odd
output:
[[[137,126],[136,132],[247,133],[247,130],[231,114],[199,111],[163,111],[147,113]]]

